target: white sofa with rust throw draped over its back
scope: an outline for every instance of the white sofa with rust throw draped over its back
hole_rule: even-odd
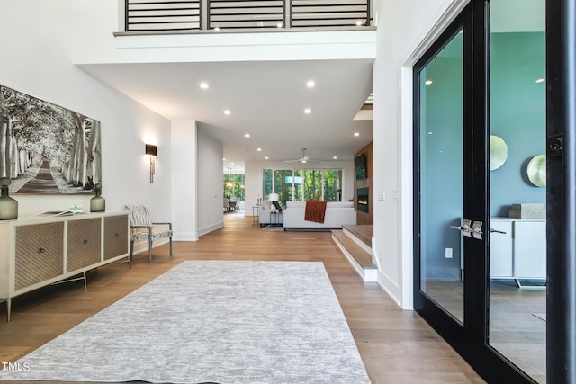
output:
[[[356,225],[356,210],[352,201],[328,201],[323,223],[304,220],[306,201],[286,201],[284,230],[290,228],[342,228]]]

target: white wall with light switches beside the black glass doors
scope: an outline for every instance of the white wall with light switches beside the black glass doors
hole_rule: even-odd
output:
[[[374,249],[379,283],[402,308],[412,308],[411,66],[464,0],[378,1],[374,63]],[[397,194],[398,199],[394,199]]]

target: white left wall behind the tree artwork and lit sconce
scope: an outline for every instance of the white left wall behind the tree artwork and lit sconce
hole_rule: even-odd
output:
[[[75,8],[79,3],[85,4],[76,0],[0,2],[0,47],[4,52],[0,84],[101,121],[106,210],[121,210],[126,203],[144,203],[154,219],[170,219],[169,121],[72,64],[74,40],[82,37],[76,28],[79,21]],[[103,3],[116,4],[97,2]],[[82,43],[84,49],[90,49],[90,41]],[[158,146],[154,183],[149,183],[145,143]],[[75,204],[89,210],[90,197],[14,195],[21,217],[44,210],[66,210]]]

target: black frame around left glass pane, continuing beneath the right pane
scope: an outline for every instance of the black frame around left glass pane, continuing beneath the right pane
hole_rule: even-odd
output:
[[[490,104],[489,0],[472,0],[414,66],[414,308],[489,382],[535,383],[489,345]],[[458,31],[464,31],[464,217],[482,221],[482,240],[464,240],[464,325],[420,290],[420,116],[421,69]],[[458,193],[458,192],[455,192]]]

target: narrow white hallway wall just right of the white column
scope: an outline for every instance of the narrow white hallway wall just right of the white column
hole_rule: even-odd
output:
[[[206,129],[198,129],[198,234],[224,227],[222,203],[224,147]]]

